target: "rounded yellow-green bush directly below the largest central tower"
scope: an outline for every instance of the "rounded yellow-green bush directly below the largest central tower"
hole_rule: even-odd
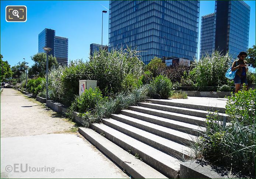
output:
[[[145,70],[150,71],[155,78],[161,75],[165,71],[165,68],[166,65],[162,62],[161,58],[154,57],[146,66]]]

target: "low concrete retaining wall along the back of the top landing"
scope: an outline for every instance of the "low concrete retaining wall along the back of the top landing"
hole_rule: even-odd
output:
[[[231,96],[231,92],[197,92],[197,91],[176,91],[184,92],[187,96],[193,97],[213,97],[213,98],[224,98],[225,96]]]

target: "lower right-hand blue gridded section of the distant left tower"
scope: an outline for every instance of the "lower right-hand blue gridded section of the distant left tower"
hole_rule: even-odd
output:
[[[54,56],[56,57],[58,63],[67,64],[69,54],[69,39],[55,36],[54,49]]]

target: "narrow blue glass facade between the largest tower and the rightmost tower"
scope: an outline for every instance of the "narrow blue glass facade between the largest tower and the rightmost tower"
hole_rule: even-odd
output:
[[[200,58],[205,53],[211,54],[214,50],[214,21],[215,13],[201,17]]]

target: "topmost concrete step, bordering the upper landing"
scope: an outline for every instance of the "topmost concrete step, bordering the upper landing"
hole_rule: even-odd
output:
[[[176,106],[176,107],[182,107],[182,108],[189,108],[189,109],[194,109],[194,110],[218,111],[221,113],[225,113],[225,108],[221,108],[221,107],[211,107],[211,106],[205,106],[205,105],[179,103],[179,102],[173,101],[173,100],[147,99],[147,101],[150,101],[153,104],[162,104],[162,105],[170,105],[170,106]]]

